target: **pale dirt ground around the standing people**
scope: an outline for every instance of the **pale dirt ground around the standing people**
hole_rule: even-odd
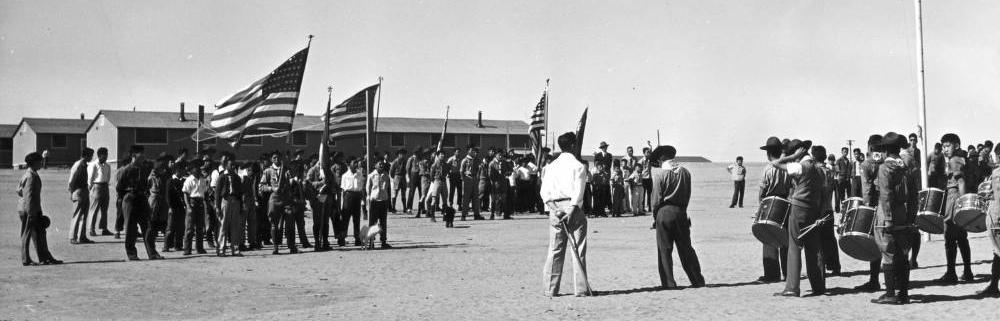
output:
[[[345,247],[277,256],[253,251],[242,258],[170,252],[166,260],[148,261],[140,246],[143,260],[125,262],[122,240],[111,236],[93,238],[96,244],[69,244],[65,170],[43,170],[41,176],[43,208],[53,219],[50,248],[67,264],[22,267],[14,194],[21,171],[4,170],[0,320],[996,320],[1000,299],[975,296],[989,277],[992,250],[986,234],[970,235],[976,280],[958,285],[930,281],[944,273],[944,247],[940,236],[925,242],[920,268],[912,273],[914,304],[908,306],[871,304],[877,293],[852,290],[867,280],[868,263],[843,254],[845,276],[827,279],[829,295],[772,297],[783,283],[753,282],[762,274],[761,245],[750,234],[761,166],[749,167],[746,208],[729,209],[732,183],[725,165],[689,165],[692,238],[708,287],[658,288],[650,216],[599,218],[589,222],[588,272],[603,295],[591,298],[543,296],[547,221],[537,214],[456,222],[454,229],[390,215],[391,250]],[[689,284],[679,266],[675,272],[681,272],[680,285]],[[564,294],[571,294],[569,279]],[[803,291],[808,284],[803,280]]]

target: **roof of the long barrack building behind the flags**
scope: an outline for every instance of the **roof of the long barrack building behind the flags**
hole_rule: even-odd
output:
[[[161,129],[194,129],[197,127],[198,114],[185,113],[187,121],[177,120],[179,112],[164,111],[131,111],[131,110],[101,110],[96,121],[104,115],[106,121],[118,128],[161,128]],[[205,113],[206,121],[212,114]],[[320,116],[296,115],[292,125],[295,131],[323,131]],[[440,133],[443,118],[410,118],[410,117],[380,117],[378,131],[383,133]],[[483,128],[476,126],[475,119],[449,119],[450,134],[527,134],[528,123],[521,120],[483,120]]]

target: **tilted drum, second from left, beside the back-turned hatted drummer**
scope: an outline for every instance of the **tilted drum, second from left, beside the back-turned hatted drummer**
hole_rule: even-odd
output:
[[[875,209],[858,206],[844,214],[840,249],[850,257],[862,261],[876,261],[882,252],[875,241]]]

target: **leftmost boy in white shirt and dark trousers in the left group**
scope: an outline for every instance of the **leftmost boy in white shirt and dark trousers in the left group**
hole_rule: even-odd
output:
[[[208,193],[208,179],[201,170],[201,160],[195,159],[188,165],[188,176],[184,179],[184,255],[191,255],[191,242],[198,254],[205,254],[205,194]]]

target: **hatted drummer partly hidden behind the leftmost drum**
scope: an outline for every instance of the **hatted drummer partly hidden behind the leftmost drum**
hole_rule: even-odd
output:
[[[781,158],[781,140],[777,137],[770,137],[767,143],[760,149],[766,151],[767,160],[775,161]],[[770,164],[764,169],[763,177],[760,181],[760,192],[757,201],[766,197],[777,196],[788,199],[788,193],[792,188],[792,180],[788,177],[788,172],[778,170]],[[764,276],[757,279],[758,282],[769,283],[781,281],[781,276],[785,273],[785,264],[788,261],[788,247],[776,247],[764,244]]]

